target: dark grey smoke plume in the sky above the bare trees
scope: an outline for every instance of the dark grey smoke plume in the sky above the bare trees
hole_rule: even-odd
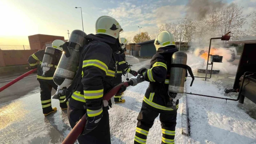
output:
[[[220,9],[225,5],[222,0],[188,0],[186,16],[202,19],[213,9]]]

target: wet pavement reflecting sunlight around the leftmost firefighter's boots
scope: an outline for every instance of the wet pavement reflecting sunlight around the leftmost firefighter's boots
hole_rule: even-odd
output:
[[[133,70],[150,65],[149,59],[128,56],[127,61],[134,65]],[[0,144],[60,144],[71,131],[67,110],[60,109],[59,100],[52,99],[52,107],[57,107],[57,112],[47,117],[42,114],[35,75],[0,92]],[[16,77],[18,75],[0,77],[0,87]],[[53,89],[52,94],[55,92]]]

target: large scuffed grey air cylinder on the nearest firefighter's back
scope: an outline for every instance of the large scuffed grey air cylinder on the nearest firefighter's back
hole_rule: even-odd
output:
[[[54,73],[53,80],[59,86],[58,89],[69,86],[76,74],[79,60],[80,60],[80,47],[85,45],[85,32],[81,30],[74,30],[68,39],[68,42],[73,42],[74,48],[68,46],[68,51],[71,56],[66,57],[63,53],[60,62]],[[77,44],[74,44],[77,43]]]

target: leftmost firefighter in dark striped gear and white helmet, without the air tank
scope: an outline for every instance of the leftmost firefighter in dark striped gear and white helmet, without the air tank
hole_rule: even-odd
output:
[[[60,61],[60,57],[62,54],[62,48],[60,47],[60,45],[62,44],[64,44],[62,40],[54,40],[54,42],[52,42],[52,47],[55,48],[55,52],[54,56],[52,57],[53,59],[51,68],[46,72],[45,77],[42,76],[43,71],[41,69],[41,64],[45,52],[43,49],[29,56],[29,59],[27,60],[31,69],[37,68],[37,80],[40,83],[40,97],[44,116],[47,116],[57,110],[56,107],[52,108],[51,105],[51,91],[52,88],[57,90],[57,85],[53,81],[53,75]],[[67,103],[64,103],[65,98],[66,96],[60,97],[61,110],[66,110],[68,108]]]

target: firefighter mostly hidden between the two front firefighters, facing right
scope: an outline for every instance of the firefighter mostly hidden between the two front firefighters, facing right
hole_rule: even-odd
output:
[[[115,52],[115,59],[116,59],[116,64],[117,64],[117,74],[116,78],[114,80],[114,83],[118,85],[119,83],[122,82],[122,75],[125,75],[126,73],[130,73],[133,76],[137,77],[138,73],[137,71],[131,70],[131,66],[128,65],[128,62],[126,62],[125,59],[125,54],[124,52],[126,51],[125,45],[127,44],[127,39],[121,38],[121,50],[120,52],[117,51]],[[114,101],[115,103],[124,103],[125,100],[121,99],[122,94],[116,94],[114,96]]]

